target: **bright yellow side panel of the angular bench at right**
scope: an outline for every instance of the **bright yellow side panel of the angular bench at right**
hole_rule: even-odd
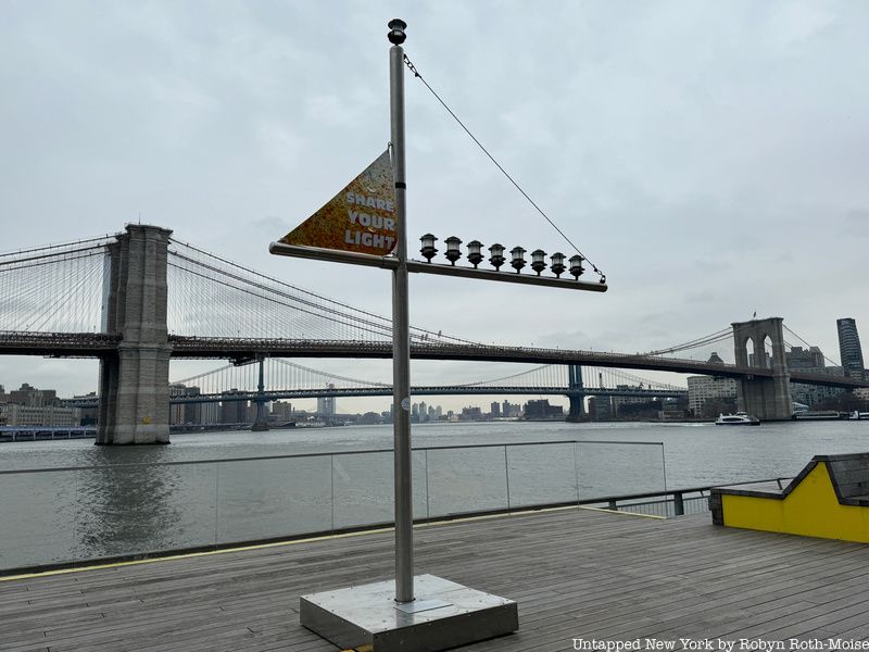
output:
[[[869,543],[869,507],[841,505],[824,462],[784,498],[721,496],[725,525]]]

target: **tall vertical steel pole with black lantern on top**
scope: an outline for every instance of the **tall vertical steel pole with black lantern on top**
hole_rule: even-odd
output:
[[[407,212],[404,184],[404,27],[389,23],[389,90],[395,217],[399,224],[392,273],[392,415],[395,449],[395,602],[414,599],[414,521],[411,480],[411,336],[407,308]]]

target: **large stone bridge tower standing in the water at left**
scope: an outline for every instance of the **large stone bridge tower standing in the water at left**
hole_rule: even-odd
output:
[[[129,224],[108,246],[104,333],[117,351],[100,360],[98,444],[169,442],[166,256],[171,230]]]

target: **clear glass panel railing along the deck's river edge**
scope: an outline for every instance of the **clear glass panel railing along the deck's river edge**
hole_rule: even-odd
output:
[[[413,451],[418,521],[665,491],[659,442]],[[0,572],[390,525],[391,450],[0,471]]]

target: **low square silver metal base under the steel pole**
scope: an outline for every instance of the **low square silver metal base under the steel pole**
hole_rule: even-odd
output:
[[[436,652],[511,634],[519,628],[513,600],[418,575],[416,600],[396,604],[395,581],[302,595],[302,625],[342,649]]]

